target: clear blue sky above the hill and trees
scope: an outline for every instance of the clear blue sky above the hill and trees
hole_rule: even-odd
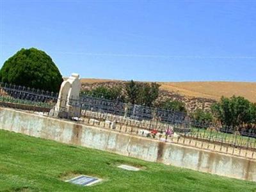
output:
[[[63,76],[256,81],[256,1],[0,0],[0,67],[36,47]]]

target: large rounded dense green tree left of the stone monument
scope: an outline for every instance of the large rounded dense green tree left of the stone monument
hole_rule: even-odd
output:
[[[35,48],[21,49],[4,62],[0,81],[58,92],[63,81],[51,57]]]

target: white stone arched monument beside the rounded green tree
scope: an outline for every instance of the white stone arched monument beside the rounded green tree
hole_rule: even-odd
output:
[[[80,90],[79,74],[72,74],[67,80],[63,81],[52,115],[66,118],[79,117],[81,109],[77,106],[77,101]]]

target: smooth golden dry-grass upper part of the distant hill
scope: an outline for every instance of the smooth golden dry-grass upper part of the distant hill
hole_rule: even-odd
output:
[[[109,79],[81,79],[81,83],[107,83],[118,82]],[[242,96],[251,102],[256,102],[256,83],[244,82],[173,82],[161,83],[161,89],[168,92],[176,92],[187,97],[203,97],[218,100],[223,95]]]

